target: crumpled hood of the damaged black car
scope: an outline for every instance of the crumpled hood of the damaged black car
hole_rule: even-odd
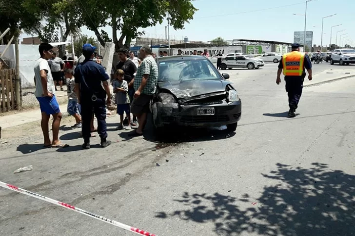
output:
[[[225,91],[230,84],[225,80],[190,80],[178,84],[171,84],[167,81],[159,82],[160,89],[171,91],[177,98],[194,97],[202,94]]]

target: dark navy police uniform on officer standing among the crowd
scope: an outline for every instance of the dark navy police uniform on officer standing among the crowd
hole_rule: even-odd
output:
[[[80,104],[82,120],[82,136],[84,143],[89,143],[90,121],[94,110],[98,119],[98,133],[101,144],[106,141],[106,91],[102,88],[101,82],[110,79],[102,65],[92,59],[85,59],[80,63],[74,73],[75,83],[80,84]],[[94,96],[94,99],[93,99]],[[97,98],[96,101],[95,97]]]

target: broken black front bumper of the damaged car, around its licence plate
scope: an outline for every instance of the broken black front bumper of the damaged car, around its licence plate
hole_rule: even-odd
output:
[[[197,108],[214,108],[214,115],[197,115]],[[224,126],[237,123],[241,116],[241,101],[213,105],[152,105],[153,119],[156,127],[178,125],[188,127]]]

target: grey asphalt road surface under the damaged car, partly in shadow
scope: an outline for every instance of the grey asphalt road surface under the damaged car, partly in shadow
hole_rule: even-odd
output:
[[[125,140],[113,117],[109,138],[119,142],[106,149],[80,150],[72,130],[61,132],[67,149],[41,149],[40,134],[1,149],[0,181],[158,236],[353,236],[355,78],[304,88],[289,119],[276,66],[225,71],[243,105],[235,133]],[[134,235],[9,190],[0,212],[1,236]]]

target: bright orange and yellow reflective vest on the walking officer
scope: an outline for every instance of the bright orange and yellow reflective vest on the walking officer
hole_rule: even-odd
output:
[[[303,73],[304,54],[294,51],[282,56],[283,74],[301,76]]]

